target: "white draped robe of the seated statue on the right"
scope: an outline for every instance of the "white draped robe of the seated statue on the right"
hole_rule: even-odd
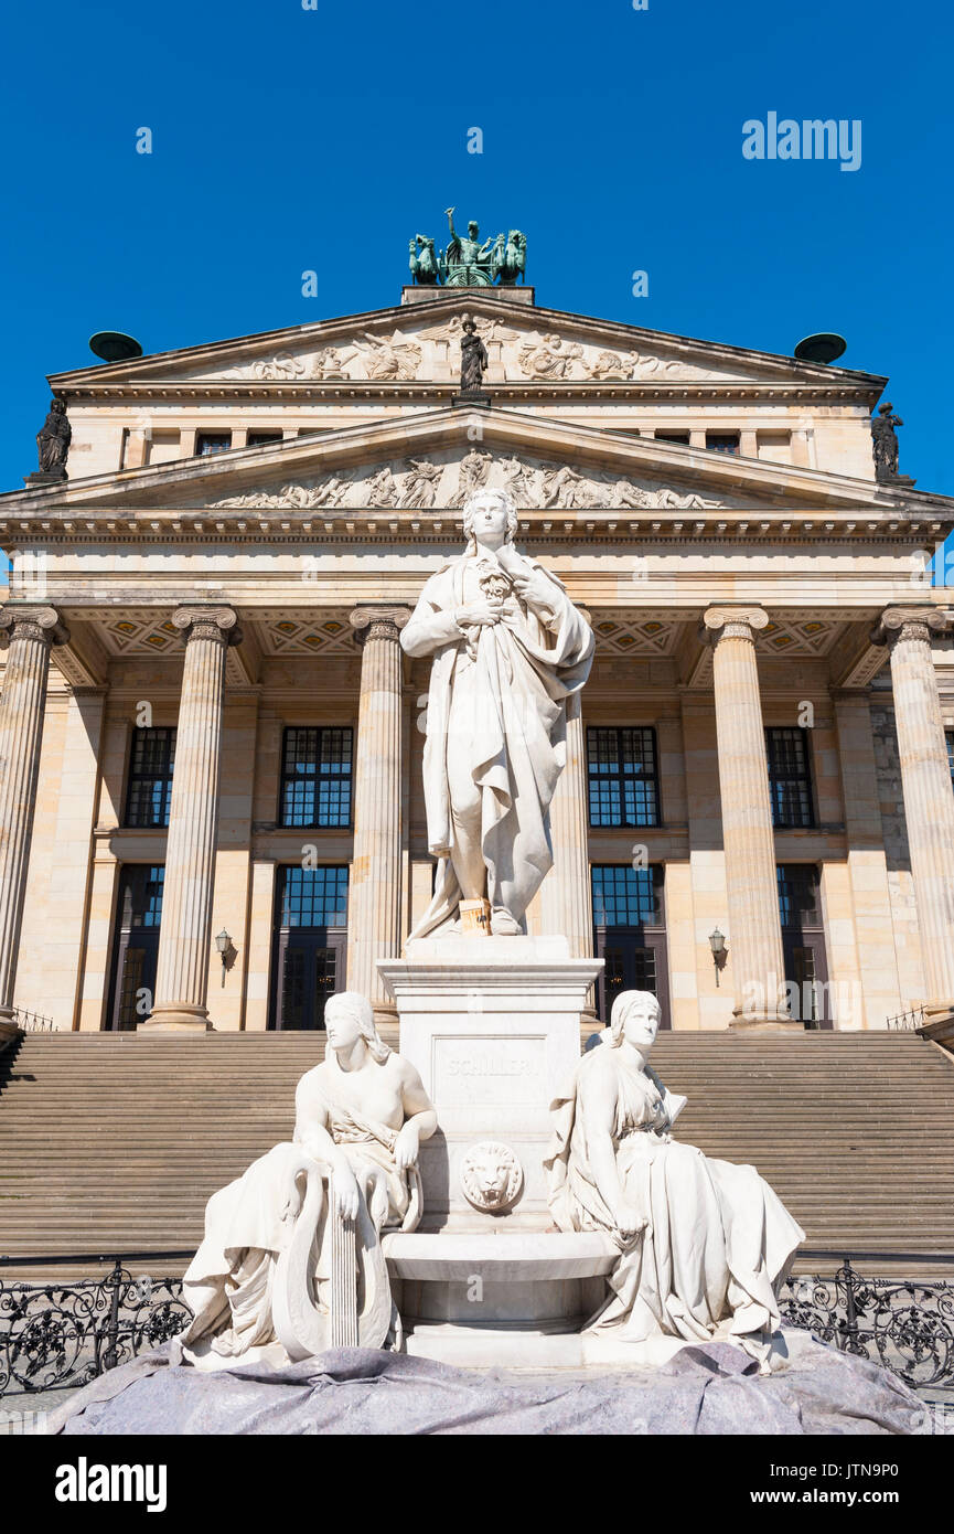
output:
[[[615,1086],[620,1183],[649,1221],[632,1241],[615,1230],[587,1155],[597,1075],[603,1091],[607,1077]],[[561,1230],[610,1232],[621,1247],[612,1295],[590,1328],[632,1342],[660,1333],[706,1341],[729,1321],[729,1335],[759,1356],[752,1338],[778,1330],[773,1285],[805,1233],[755,1167],[716,1161],[670,1140],[670,1106],[655,1071],[635,1069],[607,1043],[583,1057],[552,1104],[555,1131],[544,1167],[554,1220]]]

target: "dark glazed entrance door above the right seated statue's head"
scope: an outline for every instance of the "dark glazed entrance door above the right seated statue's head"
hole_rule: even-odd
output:
[[[594,948],[603,959],[598,1008],[609,1023],[620,991],[652,991],[663,1017],[669,1011],[669,954],[663,913],[663,868],[594,867]]]

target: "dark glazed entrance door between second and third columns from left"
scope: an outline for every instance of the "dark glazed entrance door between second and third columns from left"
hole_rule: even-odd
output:
[[[270,1028],[325,1026],[325,1003],[345,989],[348,870],[279,868]]]

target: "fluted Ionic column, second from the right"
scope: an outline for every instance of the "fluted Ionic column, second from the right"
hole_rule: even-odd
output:
[[[713,644],[722,845],[729,900],[729,957],[736,1000],[733,1026],[793,1026],[784,1000],[768,762],[759,700],[755,634],[761,607],[710,607],[702,618]]]

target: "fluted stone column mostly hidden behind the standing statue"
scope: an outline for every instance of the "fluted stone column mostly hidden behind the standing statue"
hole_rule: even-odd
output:
[[[540,887],[544,934],[569,939],[572,959],[594,956],[594,893],[589,873],[586,733],[580,693],[566,704],[566,767],[551,801],[554,867]]]

